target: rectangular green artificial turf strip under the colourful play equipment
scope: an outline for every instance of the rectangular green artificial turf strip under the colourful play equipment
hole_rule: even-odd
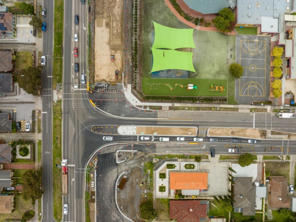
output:
[[[153,85],[154,83],[154,85]],[[173,90],[170,90],[169,84]],[[186,85],[193,84],[197,89],[187,91]],[[223,86],[224,91],[209,91],[213,86]],[[158,79],[143,78],[142,91],[146,96],[182,96],[182,97],[227,97],[227,79]]]

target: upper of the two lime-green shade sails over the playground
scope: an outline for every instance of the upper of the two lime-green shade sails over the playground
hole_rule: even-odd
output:
[[[152,48],[196,48],[193,42],[194,29],[171,28],[153,22],[155,38]]]

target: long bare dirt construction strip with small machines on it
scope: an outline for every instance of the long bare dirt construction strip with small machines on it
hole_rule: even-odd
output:
[[[121,81],[123,31],[123,1],[95,0],[95,82]],[[114,54],[114,62],[111,62],[111,54]],[[120,74],[117,80],[115,70]]]

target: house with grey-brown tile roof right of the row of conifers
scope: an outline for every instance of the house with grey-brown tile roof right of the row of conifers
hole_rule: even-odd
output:
[[[256,187],[252,177],[234,177],[234,212],[243,215],[255,215]]]

